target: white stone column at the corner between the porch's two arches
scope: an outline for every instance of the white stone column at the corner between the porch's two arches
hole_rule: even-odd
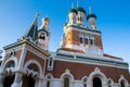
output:
[[[11,87],[22,87],[22,73],[16,72],[14,83]]]

